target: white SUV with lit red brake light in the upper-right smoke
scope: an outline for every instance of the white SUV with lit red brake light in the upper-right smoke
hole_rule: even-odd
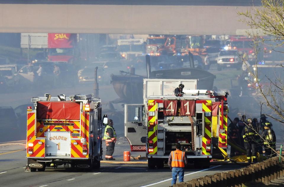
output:
[[[222,68],[236,68],[241,69],[242,60],[237,50],[221,50],[217,61],[217,70]]]

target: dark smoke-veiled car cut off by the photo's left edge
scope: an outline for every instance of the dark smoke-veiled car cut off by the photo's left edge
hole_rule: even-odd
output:
[[[20,131],[17,115],[12,107],[0,107],[0,142],[23,139],[25,132]],[[23,135],[23,136],[22,136]]]

